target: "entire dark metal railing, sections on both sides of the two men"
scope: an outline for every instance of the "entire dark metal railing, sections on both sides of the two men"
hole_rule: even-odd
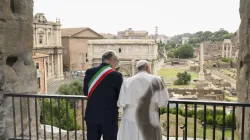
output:
[[[12,110],[13,110],[13,137],[11,139],[31,139],[31,138],[35,138],[35,139],[40,139],[41,136],[41,131],[39,131],[39,123],[41,123],[41,125],[43,125],[43,139],[46,139],[47,137],[47,132],[46,132],[46,119],[49,119],[49,123],[47,123],[47,125],[51,125],[51,136],[49,137],[49,139],[62,139],[62,127],[60,126],[62,122],[62,116],[66,115],[66,131],[64,132],[66,133],[66,138],[67,139],[72,139],[72,135],[70,136],[69,132],[74,132],[74,139],[79,139],[78,138],[78,130],[77,130],[77,112],[80,111],[80,113],[82,113],[81,116],[81,133],[82,133],[82,137],[81,139],[85,139],[85,124],[84,124],[84,100],[87,100],[87,97],[85,96],[77,96],[77,95],[43,95],[43,94],[5,94],[6,98],[11,99],[12,102]],[[18,102],[18,103],[17,103]],[[46,112],[46,105],[45,102],[49,103],[49,111]],[[61,113],[62,110],[62,106],[66,103],[66,112],[65,113]],[[76,103],[80,103],[81,105],[79,106]],[[56,104],[56,105],[55,105]],[[39,108],[38,106],[40,105],[40,110],[41,110],[41,115],[39,116]],[[175,107],[171,106],[174,105]],[[48,105],[47,105],[48,106]],[[181,108],[184,108],[183,112],[180,112]],[[209,107],[211,107],[210,110],[212,110],[212,124],[208,124],[207,122],[207,113],[209,110]],[[228,108],[232,109],[232,112],[230,112],[229,114],[232,114],[232,126],[228,128],[228,126],[226,126],[226,109]],[[201,122],[200,124],[202,125],[203,128],[203,133],[202,133],[202,139],[207,139],[207,128],[212,129],[212,138],[213,140],[216,139],[216,130],[220,129],[221,131],[221,139],[224,140],[225,137],[225,131],[230,130],[231,131],[231,139],[234,140],[236,139],[235,136],[235,111],[236,108],[241,109],[242,114],[241,114],[241,140],[244,140],[244,122],[245,122],[245,110],[246,108],[250,107],[250,104],[248,103],[236,103],[236,102],[219,102],[219,101],[199,101],[199,100],[170,100],[167,108],[166,108],[166,114],[162,114],[162,116],[166,115],[166,137],[167,140],[170,139],[170,137],[175,137],[176,140],[179,138],[179,130],[183,130],[183,134],[182,134],[182,138],[183,140],[187,140],[188,134],[190,132],[193,132],[193,139],[196,140],[198,139],[197,133],[197,126],[199,125],[199,121]],[[31,109],[33,108],[33,109]],[[52,112],[52,108],[57,108],[57,111]],[[73,110],[72,112],[70,112],[70,108]],[[174,111],[175,113],[171,113],[171,110]],[[19,114],[18,114],[18,111]],[[25,111],[24,111],[25,110]],[[32,111],[31,111],[32,110]],[[189,124],[188,121],[189,119],[191,119],[191,117],[188,117],[188,111],[192,110],[193,114],[192,116],[192,120],[193,120],[193,129],[190,130],[189,128]],[[203,120],[199,120],[199,110],[204,110],[203,111]],[[217,110],[221,110],[222,112],[222,124],[220,126],[218,126],[216,124],[216,117],[217,117]],[[52,114],[57,112],[57,119],[53,119]],[[32,124],[32,120],[31,120],[31,114],[34,113],[35,115],[35,123]],[[47,118],[45,117],[46,113],[49,114],[49,117],[47,116]],[[68,118],[69,114],[73,113],[73,128],[72,131],[70,131],[69,127],[71,126],[71,124],[69,124],[69,120],[70,118]],[[174,116],[174,121],[175,123],[171,124],[170,121],[170,115]],[[182,117],[184,117],[184,123],[182,125],[179,125],[179,118],[180,115],[182,115]],[[210,114],[211,115],[211,114]],[[221,114],[220,114],[221,115]],[[172,118],[173,118],[172,116]],[[27,119],[25,119],[27,118]],[[40,118],[40,119],[39,119]],[[20,121],[18,123],[19,126],[17,126],[17,121]],[[27,120],[27,121],[25,121]],[[34,120],[33,120],[34,121]],[[72,120],[71,120],[72,121]],[[217,120],[218,121],[218,120]],[[57,138],[54,137],[54,125],[57,125],[57,127],[59,128],[59,134],[57,136]],[[170,126],[174,126],[175,129],[175,134],[170,134]],[[18,131],[17,129],[21,130]],[[28,130],[25,133],[25,130]],[[33,133],[32,131],[35,130],[35,133]],[[200,130],[199,130],[200,131]],[[19,132],[19,133],[18,133]],[[190,134],[189,134],[190,137]],[[201,137],[199,137],[201,138]]]

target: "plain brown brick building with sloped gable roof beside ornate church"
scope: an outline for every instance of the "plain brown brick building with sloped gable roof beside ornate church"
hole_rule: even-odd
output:
[[[88,66],[88,40],[103,39],[103,36],[90,28],[62,29],[64,71],[86,70]]]

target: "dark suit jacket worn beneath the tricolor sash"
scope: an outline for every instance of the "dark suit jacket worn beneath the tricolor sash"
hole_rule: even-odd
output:
[[[91,78],[106,65],[108,64],[102,63],[86,71],[83,88],[85,96],[88,95],[88,84]],[[118,121],[117,101],[122,82],[122,74],[114,71],[99,83],[87,103],[85,112],[87,123],[103,124]]]

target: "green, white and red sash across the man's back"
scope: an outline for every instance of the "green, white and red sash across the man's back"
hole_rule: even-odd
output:
[[[88,85],[88,98],[92,95],[93,91],[99,85],[99,83],[112,71],[114,71],[109,65],[102,67],[90,80]]]

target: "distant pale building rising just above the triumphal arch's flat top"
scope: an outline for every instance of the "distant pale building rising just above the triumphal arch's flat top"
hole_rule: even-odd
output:
[[[119,31],[117,39],[148,39],[148,32],[145,30],[134,31],[132,28],[128,28],[125,31]]]

